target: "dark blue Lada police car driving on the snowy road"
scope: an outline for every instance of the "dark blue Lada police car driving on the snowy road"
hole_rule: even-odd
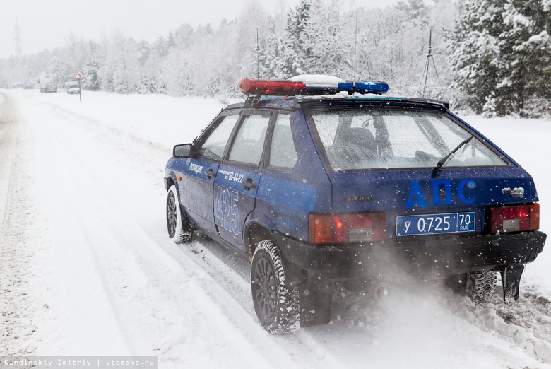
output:
[[[443,102],[385,97],[383,82],[245,78],[165,169],[167,229],[195,230],[251,261],[269,332],[331,320],[337,283],[385,293],[454,281],[476,303],[519,297],[543,250],[528,173]]]

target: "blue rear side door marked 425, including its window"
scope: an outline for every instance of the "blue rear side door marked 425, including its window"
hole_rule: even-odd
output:
[[[254,210],[270,112],[245,113],[214,183],[220,238],[245,250],[244,221]]]

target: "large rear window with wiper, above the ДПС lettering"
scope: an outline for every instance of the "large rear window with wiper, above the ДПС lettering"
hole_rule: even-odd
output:
[[[309,115],[333,171],[434,168],[472,136],[441,112],[409,110],[315,110]],[[442,168],[506,166],[476,137]]]

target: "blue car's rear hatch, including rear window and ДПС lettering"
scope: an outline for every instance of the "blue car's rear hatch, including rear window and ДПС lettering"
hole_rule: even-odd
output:
[[[333,214],[379,213],[333,220],[358,228],[349,242],[480,234],[490,206],[538,201],[525,170],[442,106],[352,100],[312,105],[307,116]],[[386,234],[361,234],[376,225]]]

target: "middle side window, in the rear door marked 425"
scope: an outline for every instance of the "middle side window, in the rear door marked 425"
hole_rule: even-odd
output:
[[[227,160],[258,167],[262,158],[270,115],[249,115],[243,119]]]

